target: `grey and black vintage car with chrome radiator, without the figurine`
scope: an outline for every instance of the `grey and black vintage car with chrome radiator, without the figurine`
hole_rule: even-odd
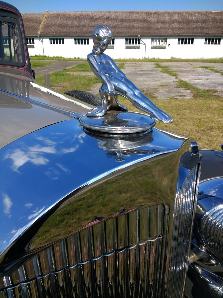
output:
[[[222,297],[195,212],[221,202],[222,151],[157,128],[83,129],[93,106],[34,81],[21,15],[0,12],[13,43],[0,45],[0,298]],[[195,239],[206,259],[188,271]]]

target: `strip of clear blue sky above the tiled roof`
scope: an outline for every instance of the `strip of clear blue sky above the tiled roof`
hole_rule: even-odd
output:
[[[6,0],[7,1],[7,0]],[[103,10],[223,10],[222,0],[9,0],[22,13]]]

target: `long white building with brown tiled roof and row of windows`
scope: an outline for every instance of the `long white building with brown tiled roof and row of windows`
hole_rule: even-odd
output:
[[[108,25],[112,58],[220,58],[223,11],[68,11],[23,14],[30,55],[86,58]]]

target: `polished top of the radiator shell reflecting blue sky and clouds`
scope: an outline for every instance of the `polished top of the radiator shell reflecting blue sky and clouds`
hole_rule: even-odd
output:
[[[185,140],[157,129],[135,139],[106,140],[85,133],[73,119],[39,129],[2,148],[0,252],[6,253],[19,239],[21,245],[13,254],[27,251],[33,233],[69,194],[129,165],[177,151]],[[111,212],[122,207],[116,209]],[[93,218],[91,214],[89,219]],[[90,220],[79,220],[79,224],[84,226]]]

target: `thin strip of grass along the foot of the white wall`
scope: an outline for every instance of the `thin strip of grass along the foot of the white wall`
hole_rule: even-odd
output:
[[[87,61],[84,58],[64,58],[61,56],[42,56],[35,55],[30,56],[32,60],[58,60],[58,61]],[[170,59],[160,59],[160,58],[145,58],[145,59],[114,59],[114,61],[120,62],[210,62],[210,63],[223,63],[223,58],[210,58],[210,59],[179,59],[171,57]]]

